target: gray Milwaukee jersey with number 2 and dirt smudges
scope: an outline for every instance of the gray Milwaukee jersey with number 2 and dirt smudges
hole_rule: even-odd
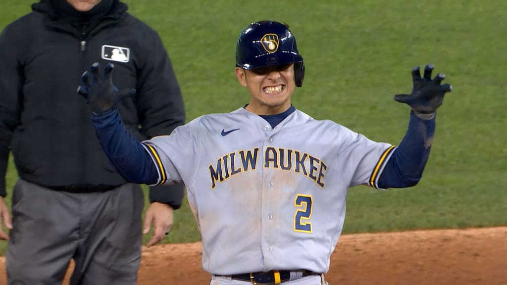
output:
[[[243,108],[144,141],[159,183],[183,182],[211,274],[325,273],[349,187],[377,187],[394,146],[295,111],[272,128]]]

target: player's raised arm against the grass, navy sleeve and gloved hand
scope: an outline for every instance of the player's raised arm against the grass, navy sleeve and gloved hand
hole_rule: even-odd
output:
[[[438,74],[431,80],[433,65],[424,68],[421,78],[419,67],[412,70],[414,87],[411,94],[395,95],[394,100],[411,106],[407,133],[386,162],[378,178],[379,188],[403,188],[416,185],[422,177],[431,150],[437,108],[442,104],[451,85],[441,85],[445,78]]]

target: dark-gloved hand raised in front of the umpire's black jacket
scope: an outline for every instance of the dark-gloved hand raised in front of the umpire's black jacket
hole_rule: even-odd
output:
[[[99,64],[95,62],[81,76],[82,85],[78,87],[78,93],[85,97],[86,102],[95,115],[102,115],[113,110],[116,105],[126,96],[135,95],[135,89],[127,88],[118,90],[113,83],[112,63],[107,63],[104,67],[104,74],[100,76]]]

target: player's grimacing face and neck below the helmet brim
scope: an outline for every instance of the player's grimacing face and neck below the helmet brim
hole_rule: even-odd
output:
[[[251,94],[246,110],[258,115],[275,115],[291,107],[291,95],[296,87],[294,64],[253,70],[236,67],[236,77]]]

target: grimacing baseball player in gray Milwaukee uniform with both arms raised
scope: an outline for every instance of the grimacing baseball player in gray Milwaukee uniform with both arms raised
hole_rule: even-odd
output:
[[[85,96],[107,156],[126,180],[148,185],[183,182],[202,237],[202,266],[211,284],[325,283],[345,219],[347,191],[418,183],[428,159],[435,111],[451,91],[412,70],[411,106],[399,146],[375,142],[329,120],[315,120],[291,104],[305,67],[284,24],[248,25],[236,47],[235,74],[249,103],[227,114],[199,117],[170,135],[142,143],[123,126],[112,65],[83,74]],[[219,221],[219,222],[216,222]]]

